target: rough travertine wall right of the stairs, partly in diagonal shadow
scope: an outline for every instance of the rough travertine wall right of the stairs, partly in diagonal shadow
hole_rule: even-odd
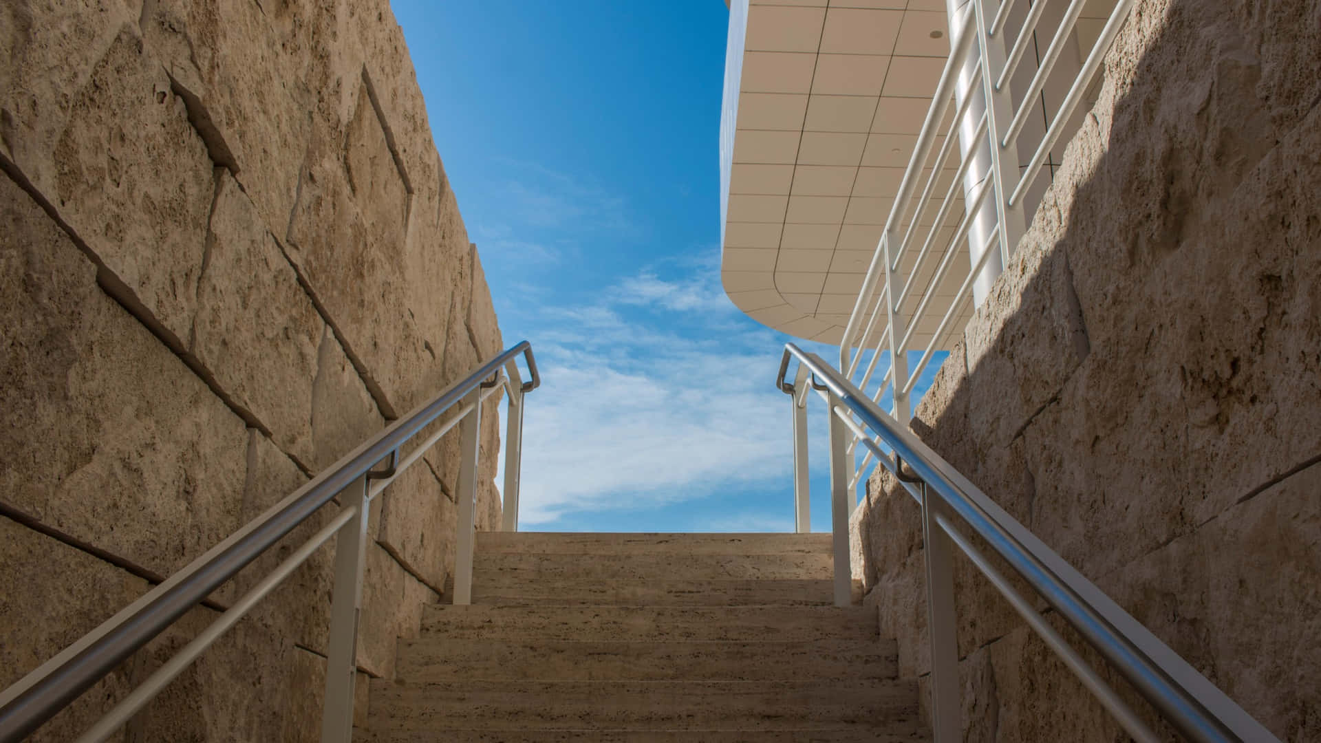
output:
[[[1139,0],[911,423],[1284,740],[1321,738],[1318,102],[1321,3]],[[875,477],[855,568],[925,678],[918,517]],[[1125,739],[956,567],[966,739]]]

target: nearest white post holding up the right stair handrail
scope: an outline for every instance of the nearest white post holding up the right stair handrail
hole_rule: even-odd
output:
[[[931,740],[963,740],[959,702],[959,640],[954,608],[954,562],[950,537],[935,522],[937,505],[922,489],[922,545],[926,553],[926,617],[931,644]]]

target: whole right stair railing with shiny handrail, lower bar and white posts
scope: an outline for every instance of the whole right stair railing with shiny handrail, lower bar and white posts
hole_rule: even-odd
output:
[[[797,361],[794,381],[786,382]],[[810,383],[808,383],[810,379]],[[831,522],[835,603],[851,602],[848,520],[852,510],[847,444],[861,442],[922,508],[926,558],[926,606],[931,652],[931,727],[935,743],[956,743],[960,724],[959,656],[954,602],[954,547],[958,547],[1009,602],[1028,625],[1065,662],[1115,721],[1140,743],[1165,740],[1111,687],[1026,598],[988,559],[995,554],[1077,633],[1118,670],[1152,709],[1189,740],[1279,743],[1223,691],[1215,687],[1141,623],[996,505],[947,461],[886,415],[869,395],[814,353],[785,346],[775,385],[790,395],[797,451],[807,450],[807,398],[826,401],[830,418]],[[864,430],[865,428],[865,430]],[[869,432],[868,432],[869,431]],[[875,436],[875,439],[873,439]],[[882,448],[884,444],[884,448]],[[802,469],[798,465],[802,464]],[[795,461],[797,510],[807,506],[806,459]],[[906,469],[905,469],[906,465]],[[911,475],[909,475],[911,472]],[[970,537],[974,537],[971,539]],[[987,553],[983,553],[983,546]]]

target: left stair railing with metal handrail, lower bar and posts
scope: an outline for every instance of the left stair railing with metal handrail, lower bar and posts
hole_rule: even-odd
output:
[[[502,368],[513,364],[519,354],[523,356],[527,364],[531,381],[515,385],[509,375],[502,373]],[[49,721],[78,698],[79,694],[108,674],[115,666],[147,645],[147,643],[199,604],[225,582],[234,578],[266,550],[304,524],[318,509],[330,502],[332,498],[346,490],[353,490],[354,497],[350,502],[345,504],[345,510],[332,521],[332,525],[336,526],[334,531],[339,535],[339,547],[336,555],[336,600],[332,607],[330,658],[328,660],[330,666],[326,672],[328,693],[325,705],[330,710],[333,705],[343,706],[346,703],[351,722],[353,648],[355,646],[355,617],[359,608],[357,603],[361,596],[362,545],[359,541],[357,549],[343,549],[346,546],[346,535],[351,535],[346,529],[359,529],[359,538],[365,534],[367,504],[370,504],[373,494],[380,492],[379,488],[371,488],[369,481],[396,476],[403,467],[416,461],[420,456],[419,452],[425,450],[425,447],[419,447],[400,465],[398,455],[403,444],[461,401],[465,403],[465,407],[454,419],[448,422],[444,430],[448,430],[460,419],[469,420],[476,418],[480,414],[481,399],[494,391],[490,387],[502,382],[506,385],[511,401],[517,398],[519,405],[522,403],[523,394],[540,386],[540,374],[536,370],[536,360],[532,356],[531,344],[522,341],[514,345],[495,358],[478,366],[466,378],[450,385],[429,402],[424,402],[407,416],[391,423],[380,434],[345,455],[306,485],[271,506],[266,513],[254,518],[219,545],[215,545],[194,559],[188,567],[148,591],[119,613],[102,623],[100,627],[89,632],[59,654],[0,693],[0,743],[21,740]],[[490,391],[486,391],[486,389],[490,389]],[[513,419],[510,419],[510,424],[514,424]],[[518,424],[522,424],[522,414],[519,414]],[[476,436],[476,432],[473,435]],[[435,444],[439,438],[440,434],[432,435],[427,446]],[[473,443],[476,444],[476,442]],[[373,468],[386,460],[391,463],[388,475],[382,473],[379,477],[375,477],[378,473],[373,472]],[[461,500],[469,500],[476,496],[476,461],[466,464],[469,467],[460,473],[458,489]],[[517,457],[510,456],[506,456],[505,464],[506,475],[509,467],[513,465],[515,469],[519,467]],[[517,475],[514,480],[517,481]],[[507,481],[509,479],[506,479]],[[517,508],[517,500],[514,506]],[[468,520],[468,528],[472,528],[470,518]],[[461,524],[460,531],[462,533],[462,530],[464,525]],[[318,533],[313,541],[325,541],[329,535],[328,533]],[[346,555],[350,551],[355,551],[357,555],[347,558]],[[301,562],[310,553],[312,549],[300,549],[289,559],[300,558],[299,562]],[[355,566],[351,565],[354,559]],[[205,645],[210,645],[223,629],[238,619],[232,613],[235,609],[244,607],[243,611],[246,611],[246,608],[250,608],[252,603],[273,588],[283,576],[288,575],[293,567],[296,565],[289,565],[287,561],[272,571],[267,580],[258,583],[235,607],[231,607],[217,620],[213,629],[203,633],[206,640],[202,646],[189,645],[186,648],[186,660],[196,657],[197,653],[205,649]],[[353,575],[354,568],[357,571],[355,575]],[[341,575],[342,571],[350,575]],[[456,576],[456,583],[457,579],[458,576]],[[351,600],[349,600],[349,595],[351,595]],[[339,621],[341,617],[347,624]],[[341,632],[341,625],[347,628],[346,636]],[[332,687],[341,682],[341,680],[336,678],[336,673],[333,673],[337,658],[341,661],[341,665],[347,664],[347,697],[343,695],[343,689],[338,694],[332,695]],[[170,673],[177,673],[182,666],[178,665],[176,668],[176,665],[178,664],[172,664],[166,668],[170,669]],[[153,693],[159,691],[169,678],[173,678],[169,673],[153,676],[149,684],[145,685],[148,687],[147,693],[155,695]],[[144,702],[145,699],[140,694],[124,701],[125,705],[133,705],[133,709]],[[127,709],[122,705],[122,707],[116,707],[118,711],[112,710],[111,717],[122,723],[123,719],[127,719],[124,717],[124,710]],[[131,710],[128,714],[131,714]],[[103,739],[106,735],[114,732],[115,727],[118,724],[108,730],[106,726],[96,727],[89,731],[89,735],[95,735],[92,738],[85,736],[85,739]],[[329,726],[324,726],[322,740],[347,739],[346,736],[347,728],[330,730]]]

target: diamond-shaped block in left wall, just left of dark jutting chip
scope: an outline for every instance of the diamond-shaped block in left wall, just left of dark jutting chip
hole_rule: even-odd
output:
[[[61,124],[53,147],[40,152],[53,161],[45,169],[54,178],[37,186],[114,275],[107,284],[120,300],[182,345],[196,311],[213,163],[184,100],[131,28],[73,93]],[[25,175],[44,169],[26,159],[16,165]]]

